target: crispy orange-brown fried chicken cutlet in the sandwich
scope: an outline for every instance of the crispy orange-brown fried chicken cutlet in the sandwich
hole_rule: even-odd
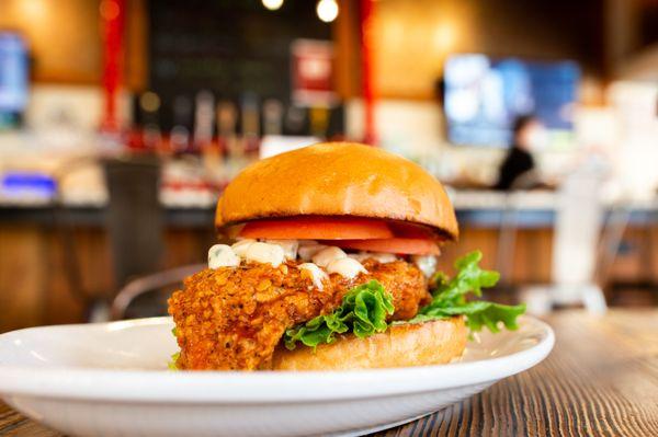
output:
[[[249,263],[204,269],[169,299],[181,347],[177,366],[186,370],[262,370],[286,329],[340,306],[354,286],[376,279],[393,296],[394,320],[416,315],[431,299],[427,279],[412,264],[365,260],[353,279],[331,274],[319,289],[299,263],[277,267]]]

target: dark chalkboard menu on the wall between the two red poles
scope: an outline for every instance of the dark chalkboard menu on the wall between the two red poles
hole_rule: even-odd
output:
[[[209,90],[217,100],[239,101],[246,94],[291,94],[291,43],[297,38],[330,39],[331,26],[318,20],[315,1],[285,0],[276,11],[260,0],[149,1],[149,88],[166,107],[180,95],[193,99]]]

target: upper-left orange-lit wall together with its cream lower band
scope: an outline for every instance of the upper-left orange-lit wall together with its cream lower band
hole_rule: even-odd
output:
[[[102,38],[99,0],[0,0],[0,31],[18,31],[30,46],[29,127],[63,120],[98,128],[103,111]],[[146,88],[148,66],[145,0],[126,2],[125,85]],[[128,122],[129,93],[120,93],[120,123]]]

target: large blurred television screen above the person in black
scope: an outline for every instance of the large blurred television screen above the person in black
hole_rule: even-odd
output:
[[[511,127],[533,114],[546,126],[549,147],[572,141],[580,69],[572,61],[540,62],[485,55],[449,57],[444,111],[452,143],[509,146]]]

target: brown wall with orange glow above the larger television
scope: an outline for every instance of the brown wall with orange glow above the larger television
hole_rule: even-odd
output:
[[[602,2],[381,0],[375,2],[375,85],[390,99],[433,97],[450,53],[571,58],[602,73]]]

